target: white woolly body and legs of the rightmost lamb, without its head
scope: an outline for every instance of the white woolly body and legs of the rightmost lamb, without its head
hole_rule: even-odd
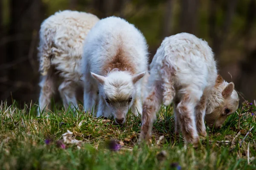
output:
[[[214,87],[216,77],[214,56],[207,42],[188,33],[166,37],[150,64],[140,138],[151,133],[151,119],[155,119],[160,104],[167,106],[174,101],[176,132],[181,129],[185,141],[196,144],[195,107],[203,94]]]

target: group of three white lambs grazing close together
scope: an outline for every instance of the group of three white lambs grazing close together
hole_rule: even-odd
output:
[[[175,132],[197,145],[198,134],[207,135],[204,120],[221,127],[239,105],[233,82],[217,74],[211,48],[192,34],[166,37],[148,70],[148,45],[134,25],[67,10],[41,24],[38,50],[38,115],[48,109],[61,78],[58,91],[65,109],[75,111],[76,90],[83,87],[87,113],[113,117],[116,124],[125,122],[130,108],[142,114],[140,141],[150,139],[160,105],[173,102]]]

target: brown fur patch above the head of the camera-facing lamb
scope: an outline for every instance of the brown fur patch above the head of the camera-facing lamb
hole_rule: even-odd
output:
[[[116,51],[116,56],[113,57],[111,61],[106,63],[105,67],[103,68],[105,74],[108,74],[109,71],[112,71],[115,68],[117,68],[119,71],[129,71],[131,74],[135,74],[136,71],[134,69],[134,64],[128,58],[130,57],[125,53],[125,51],[123,51],[121,45]]]

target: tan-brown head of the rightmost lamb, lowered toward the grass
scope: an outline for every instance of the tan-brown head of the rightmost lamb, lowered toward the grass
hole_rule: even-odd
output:
[[[233,82],[227,83],[218,75],[214,91],[219,93],[219,95],[217,95],[219,97],[215,97],[215,102],[217,101],[214,105],[215,107],[211,109],[207,108],[208,113],[205,115],[205,121],[210,128],[220,128],[227,117],[238,109],[239,96],[234,87]],[[214,102],[214,100],[209,101],[209,104],[212,104],[212,102]]]

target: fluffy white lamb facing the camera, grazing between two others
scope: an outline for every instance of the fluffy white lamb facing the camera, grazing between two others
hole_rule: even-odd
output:
[[[123,124],[129,108],[142,113],[141,86],[147,70],[148,46],[134,25],[119,17],[100,20],[84,43],[84,109],[96,117],[112,117]],[[98,86],[96,85],[98,84]],[[99,89],[99,91],[98,91]]]

